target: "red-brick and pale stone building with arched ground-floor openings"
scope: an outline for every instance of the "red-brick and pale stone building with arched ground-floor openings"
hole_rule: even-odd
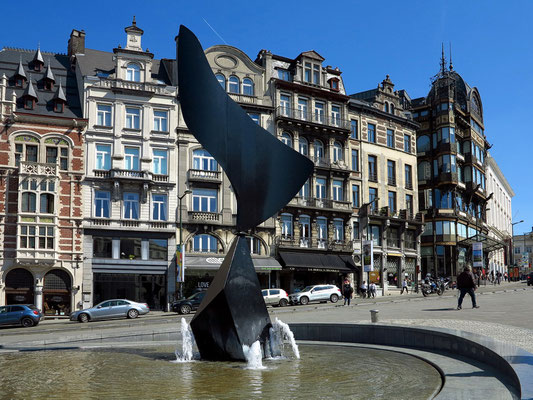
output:
[[[79,305],[85,127],[66,55],[0,51],[0,305]]]

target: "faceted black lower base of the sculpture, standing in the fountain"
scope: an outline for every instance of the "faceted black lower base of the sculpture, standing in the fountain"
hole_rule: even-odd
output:
[[[271,326],[249,244],[239,234],[191,321],[196,345],[206,360],[245,361],[242,346],[257,340],[263,354],[279,355],[271,354]]]

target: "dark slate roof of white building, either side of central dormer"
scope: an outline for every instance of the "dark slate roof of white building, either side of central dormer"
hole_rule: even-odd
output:
[[[114,53],[85,49],[85,54],[76,54],[82,76],[100,76],[110,78],[115,75]],[[169,71],[170,73],[170,71]],[[152,78],[159,80],[166,85],[171,85],[171,79],[161,60],[152,60]]]

